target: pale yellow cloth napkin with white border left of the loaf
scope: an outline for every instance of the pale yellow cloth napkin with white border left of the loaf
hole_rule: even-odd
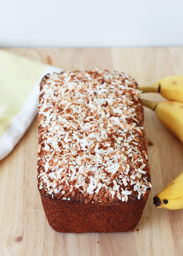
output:
[[[41,78],[60,71],[0,50],[0,160],[12,151],[34,119]]]

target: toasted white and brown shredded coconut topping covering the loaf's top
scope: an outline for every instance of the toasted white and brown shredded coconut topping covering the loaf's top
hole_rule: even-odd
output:
[[[39,189],[67,201],[76,190],[86,201],[127,202],[134,192],[141,199],[151,183],[143,176],[140,97],[135,80],[117,71],[46,76],[38,114]]]

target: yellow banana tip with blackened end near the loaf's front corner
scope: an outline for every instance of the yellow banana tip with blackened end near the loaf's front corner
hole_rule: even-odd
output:
[[[153,198],[158,208],[178,210],[183,208],[183,172],[172,180],[161,192]]]

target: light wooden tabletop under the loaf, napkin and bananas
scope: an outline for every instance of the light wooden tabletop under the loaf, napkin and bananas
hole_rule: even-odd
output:
[[[63,69],[124,71],[146,85],[183,74],[183,47],[6,49]],[[155,93],[144,98],[162,100]],[[152,190],[134,232],[62,234],[49,226],[37,189],[37,118],[0,163],[1,256],[182,256],[183,210],[157,209],[152,198],[183,170],[183,145],[145,109]]]

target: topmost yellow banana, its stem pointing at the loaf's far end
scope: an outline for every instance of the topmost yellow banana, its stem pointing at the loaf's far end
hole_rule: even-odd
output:
[[[159,92],[168,100],[183,102],[183,76],[167,76],[149,86],[139,87],[143,92]]]

